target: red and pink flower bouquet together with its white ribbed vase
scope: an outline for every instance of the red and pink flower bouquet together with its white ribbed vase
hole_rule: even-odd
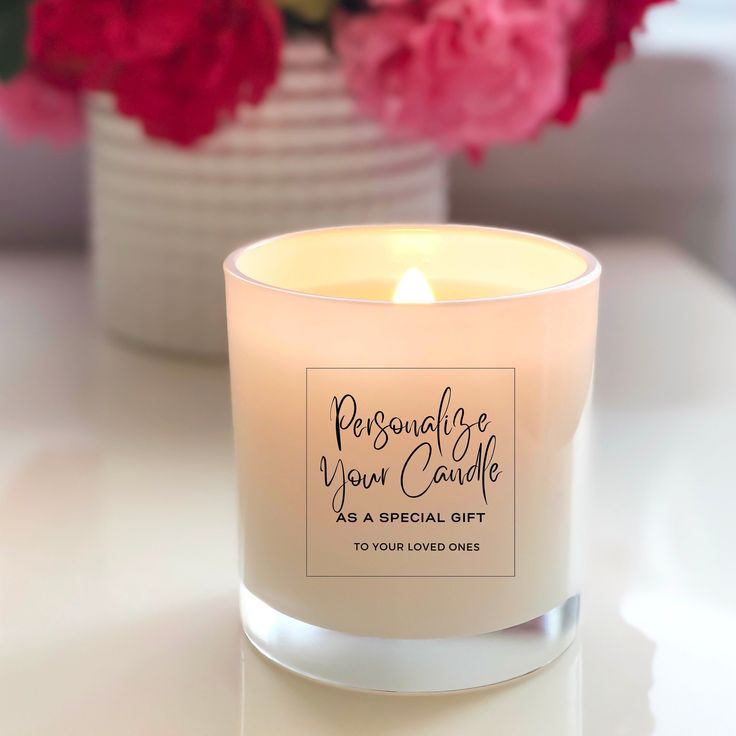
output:
[[[440,220],[443,156],[572,122],[660,0],[3,0],[0,125],[90,129],[117,332],[224,349],[240,241]]]

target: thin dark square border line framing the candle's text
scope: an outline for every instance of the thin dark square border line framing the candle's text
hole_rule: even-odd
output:
[[[511,371],[513,376],[514,426],[514,571],[511,575],[310,575],[309,574],[309,371]],[[307,578],[515,578],[516,577],[516,368],[498,366],[309,366],[304,369],[304,575]]]

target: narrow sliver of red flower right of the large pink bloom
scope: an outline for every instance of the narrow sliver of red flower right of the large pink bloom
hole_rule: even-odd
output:
[[[650,5],[667,0],[586,0],[572,30],[567,98],[555,116],[564,123],[578,114],[586,92],[603,88],[609,68],[631,53],[632,33]]]

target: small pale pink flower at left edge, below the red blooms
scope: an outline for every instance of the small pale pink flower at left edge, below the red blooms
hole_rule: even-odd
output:
[[[30,69],[0,85],[0,124],[14,140],[43,136],[58,146],[73,143],[84,130],[79,96]]]

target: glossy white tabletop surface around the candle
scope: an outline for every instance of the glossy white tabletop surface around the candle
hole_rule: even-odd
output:
[[[101,336],[81,259],[0,255],[0,734],[736,733],[736,298],[673,248],[599,254],[581,635],[435,697],[242,643],[225,368]]]

